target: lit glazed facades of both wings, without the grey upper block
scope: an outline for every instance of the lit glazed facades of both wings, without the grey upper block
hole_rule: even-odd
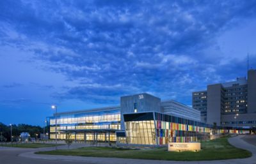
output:
[[[166,145],[168,142],[208,140],[213,131],[211,124],[158,112],[124,114],[124,130],[121,130],[120,124],[120,109],[60,113],[57,116],[49,117],[50,138],[54,139],[56,136],[57,139],[64,140],[67,138],[67,133],[70,133],[73,140]],[[217,126],[215,131],[216,133],[242,132],[221,126]]]

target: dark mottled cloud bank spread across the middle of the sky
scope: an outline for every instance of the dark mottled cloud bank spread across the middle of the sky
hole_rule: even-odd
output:
[[[0,45],[33,53],[25,60],[65,75],[74,84],[54,93],[63,100],[113,103],[123,94],[148,92],[189,103],[191,91],[246,71],[244,59],[220,64],[218,51],[206,50],[216,46],[221,33],[255,17],[255,5],[255,1],[1,1]]]

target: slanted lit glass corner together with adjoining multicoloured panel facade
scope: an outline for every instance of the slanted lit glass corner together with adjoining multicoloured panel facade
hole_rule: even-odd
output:
[[[213,125],[157,112],[124,114],[127,144],[166,145],[168,142],[209,140]],[[216,133],[238,133],[216,127]]]

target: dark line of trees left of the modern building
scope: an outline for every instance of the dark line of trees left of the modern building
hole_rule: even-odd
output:
[[[45,127],[45,133],[47,133],[47,127]],[[28,132],[30,137],[40,137],[40,133],[44,133],[44,128],[40,126],[33,126],[29,124],[12,124],[12,136],[13,138],[19,138],[20,133]],[[0,142],[11,140],[11,126],[0,123]]]

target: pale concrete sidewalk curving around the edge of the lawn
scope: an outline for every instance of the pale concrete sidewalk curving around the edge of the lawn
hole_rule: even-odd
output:
[[[26,158],[37,158],[45,160],[63,160],[63,161],[79,161],[81,163],[104,163],[104,164],[120,164],[120,163],[136,163],[136,164],[170,164],[170,163],[189,163],[189,164],[212,164],[212,163],[246,163],[246,164],[255,164],[256,163],[256,147],[252,144],[248,144],[242,140],[243,136],[232,137],[228,139],[230,144],[239,147],[241,149],[246,149],[252,152],[252,157],[244,159],[234,159],[234,160],[216,160],[216,161],[163,161],[163,160],[136,160],[136,159],[125,159],[125,158],[95,158],[95,157],[83,157],[83,156],[54,156],[54,155],[42,155],[34,154],[33,152],[22,153],[19,156]],[[79,145],[74,145],[74,147],[79,147]],[[83,147],[81,145],[81,147]],[[54,147],[51,147],[54,149]],[[45,150],[36,150],[36,151],[49,151],[49,147],[45,147]]]

